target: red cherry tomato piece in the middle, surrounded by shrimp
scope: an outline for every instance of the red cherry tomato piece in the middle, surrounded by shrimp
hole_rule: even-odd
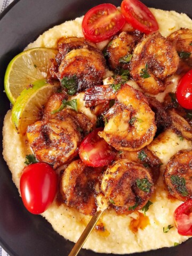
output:
[[[113,148],[98,135],[102,130],[98,128],[88,134],[79,147],[79,156],[88,166],[105,166],[115,158],[116,153]]]

